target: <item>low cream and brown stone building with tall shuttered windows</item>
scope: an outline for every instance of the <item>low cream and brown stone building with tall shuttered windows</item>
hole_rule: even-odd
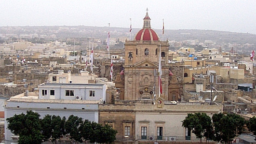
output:
[[[221,112],[222,106],[203,103],[172,105],[164,101],[154,105],[150,101],[117,100],[115,104],[99,105],[99,123],[108,124],[117,130],[117,141],[127,141],[125,136],[128,133],[128,140],[139,143],[157,139],[169,141],[170,137],[184,141],[186,130],[181,121],[188,113],[198,112],[199,109],[212,116]],[[159,131],[162,134],[159,135]],[[194,135],[191,136],[191,140],[195,139]]]

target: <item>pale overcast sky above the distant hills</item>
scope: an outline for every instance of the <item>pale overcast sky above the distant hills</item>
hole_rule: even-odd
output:
[[[88,25],[256,34],[256,0],[0,0],[0,26]]]

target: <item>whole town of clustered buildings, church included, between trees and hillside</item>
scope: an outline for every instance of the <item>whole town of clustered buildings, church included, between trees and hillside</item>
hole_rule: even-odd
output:
[[[120,38],[123,49],[110,47],[111,59],[106,48],[96,47],[96,38],[88,39],[85,51],[58,41],[1,45],[0,94],[7,97],[4,119],[27,110],[38,112],[41,117],[73,114],[110,125],[118,132],[117,142],[146,144],[156,140],[195,140],[195,135],[182,127],[181,121],[188,113],[212,116],[225,111],[244,118],[254,116],[256,67],[249,55],[239,55],[234,49],[224,52],[221,48],[196,51],[175,41],[161,40],[150,20],[147,12],[143,28],[134,39]],[[75,39],[69,40],[75,43]],[[170,46],[179,49],[172,51]],[[94,73],[90,70],[92,64]],[[6,140],[5,144],[16,142],[7,123],[0,128],[4,129],[4,138],[0,138]]]

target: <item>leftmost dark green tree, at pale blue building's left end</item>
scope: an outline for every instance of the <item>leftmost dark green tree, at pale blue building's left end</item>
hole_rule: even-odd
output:
[[[24,115],[14,115],[8,118],[8,129],[19,135],[19,144],[41,144],[43,135],[41,133],[40,115],[33,111],[27,111]],[[20,125],[17,125],[17,124]],[[9,126],[10,125],[10,126]],[[20,130],[17,130],[20,129]]]

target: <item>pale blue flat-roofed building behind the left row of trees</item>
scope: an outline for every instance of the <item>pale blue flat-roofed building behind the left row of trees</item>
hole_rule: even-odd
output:
[[[68,118],[78,116],[98,122],[98,104],[106,101],[106,84],[40,84],[38,91],[26,92],[5,101],[4,117],[13,117],[27,110]],[[5,144],[15,144],[13,133],[5,123]]]

